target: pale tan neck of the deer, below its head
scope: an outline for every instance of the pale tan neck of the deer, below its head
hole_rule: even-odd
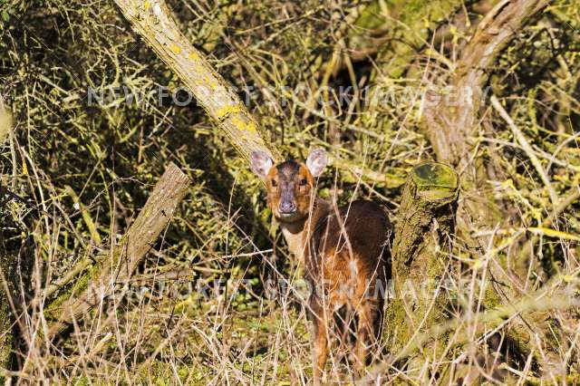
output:
[[[314,232],[316,222],[328,213],[329,208],[329,203],[316,196],[310,210],[310,216],[299,221],[280,223],[288,249],[301,261],[304,261],[304,256],[308,253],[308,240]]]

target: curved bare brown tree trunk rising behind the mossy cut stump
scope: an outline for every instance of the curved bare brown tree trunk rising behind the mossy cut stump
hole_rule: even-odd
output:
[[[500,203],[482,194],[488,180],[488,165],[473,151],[478,145],[478,111],[483,98],[488,73],[499,53],[513,39],[521,27],[546,5],[547,1],[502,0],[478,24],[478,29],[463,50],[451,86],[453,101],[430,92],[424,108],[423,129],[435,151],[437,160],[447,163],[461,173],[463,199],[458,207],[458,235],[468,247],[485,250],[488,240],[478,240],[472,232],[492,229],[505,220]],[[495,281],[507,278],[504,269],[493,269]],[[498,291],[502,291],[497,288]],[[489,303],[497,304],[498,298]],[[499,296],[505,299],[505,296]]]

